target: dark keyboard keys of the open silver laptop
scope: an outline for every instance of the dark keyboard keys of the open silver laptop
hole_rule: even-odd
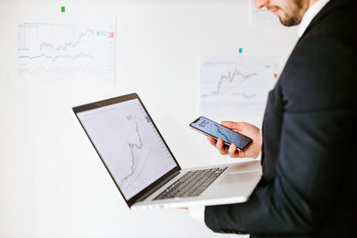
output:
[[[226,168],[206,168],[188,171],[157,195],[154,200],[199,196]]]

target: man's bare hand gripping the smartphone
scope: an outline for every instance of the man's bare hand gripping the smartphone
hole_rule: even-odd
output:
[[[253,140],[252,144],[245,148],[244,151],[238,151],[236,144],[228,146],[223,143],[221,138],[215,140],[212,136],[209,136],[207,138],[208,141],[216,147],[221,154],[229,154],[232,158],[258,157],[262,151],[261,131],[258,127],[247,122],[235,121],[222,121],[220,124],[232,130],[237,130],[238,133],[246,135]]]

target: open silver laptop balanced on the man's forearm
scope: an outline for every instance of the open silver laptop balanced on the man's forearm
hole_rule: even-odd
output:
[[[259,160],[181,169],[137,94],[73,111],[130,209],[244,202],[261,179]]]

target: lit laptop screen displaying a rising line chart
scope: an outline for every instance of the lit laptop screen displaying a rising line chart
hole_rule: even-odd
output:
[[[138,98],[106,104],[76,114],[129,201],[178,164]]]

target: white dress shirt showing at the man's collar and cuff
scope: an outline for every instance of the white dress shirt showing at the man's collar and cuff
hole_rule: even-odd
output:
[[[318,0],[312,4],[309,9],[303,15],[303,19],[300,22],[297,34],[299,37],[303,36],[303,32],[310,25],[312,19],[321,11],[321,9],[329,2],[329,0]],[[188,211],[197,222],[204,224],[204,206],[192,206],[188,208]]]

